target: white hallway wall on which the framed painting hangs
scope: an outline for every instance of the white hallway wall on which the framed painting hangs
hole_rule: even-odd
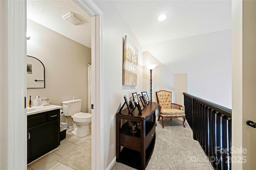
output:
[[[112,1],[94,1],[103,12],[103,86],[104,86],[104,169],[116,156],[116,113],[124,95],[142,91],[142,47]],[[137,86],[122,86],[124,36],[138,49]]]

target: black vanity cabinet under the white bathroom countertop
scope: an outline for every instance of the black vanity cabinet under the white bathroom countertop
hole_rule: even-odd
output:
[[[60,145],[60,109],[27,116],[28,162]]]

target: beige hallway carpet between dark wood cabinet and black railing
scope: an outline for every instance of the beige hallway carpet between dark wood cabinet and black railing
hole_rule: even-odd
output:
[[[192,130],[178,119],[156,121],[156,143],[146,170],[214,170]],[[116,162],[111,170],[134,170]]]

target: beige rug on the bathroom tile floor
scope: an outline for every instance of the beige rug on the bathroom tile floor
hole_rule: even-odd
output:
[[[86,146],[86,147],[85,147]],[[91,139],[87,138],[74,150],[58,159],[59,162],[75,170],[90,170],[91,168]]]

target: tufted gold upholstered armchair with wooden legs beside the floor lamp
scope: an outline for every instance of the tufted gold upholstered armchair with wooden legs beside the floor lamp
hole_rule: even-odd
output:
[[[164,128],[165,118],[183,117],[183,127],[185,127],[185,112],[182,110],[182,105],[172,103],[172,92],[161,90],[156,92],[157,104],[159,107],[158,121],[162,117],[162,127]]]

